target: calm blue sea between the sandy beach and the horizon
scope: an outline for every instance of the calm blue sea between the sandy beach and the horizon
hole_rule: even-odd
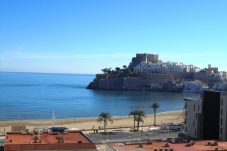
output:
[[[103,111],[128,115],[134,109],[152,113],[153,102],[160,104],[158,112],[183,109],[184,94],[86,89],[94,77],[0,72],[0,120],[48,119],[53,112],[56,118],[97,117]]]

